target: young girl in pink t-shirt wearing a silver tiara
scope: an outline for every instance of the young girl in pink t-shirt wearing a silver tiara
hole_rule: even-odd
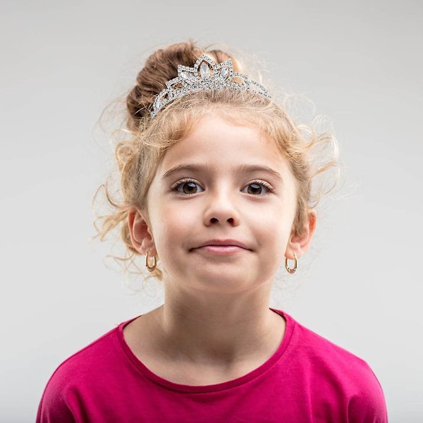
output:
[[[37,422],[387,422],[367,362],[269,307],[279,265],[298,271],[312,241],[321,139],[191,41],[149,56],[127,106],[102,235],[122,223],[165,301],[63,362]]]

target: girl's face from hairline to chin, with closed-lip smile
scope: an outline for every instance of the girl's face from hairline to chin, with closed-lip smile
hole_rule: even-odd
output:
[[[295,202],[293,176],[274,143],[210,114],[168,149],[154,176],[149,257],[160,257],[165,281],[185,288],[257,288],[285,257]],[[245,247],[200,247],[214,240]],[[292,247],[289,257],[298,255]]]

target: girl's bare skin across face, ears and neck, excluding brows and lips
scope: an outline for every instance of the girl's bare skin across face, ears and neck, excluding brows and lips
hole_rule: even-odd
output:
[[[180,164],[209,168],[162,179]],[[269,166],[282,179],[265,171],[236,174],[239,164]],[[164,305],[124,329],[152,372],[181,384],[213,384],[242,376],[275,353],[286,322],[269,309],[274,275],[285,257],[294,259],[295,252],[300,259],[308,250],[317,220],[310,209],[302,235],[294,236],[295,201],[286,160],[256,128],[208,114],[168,149],[149,188],[147,213],[128,215],[133,246],[160,257],[164,271]],[[249,250],[216,255],[196,248],[213,238],[240,240]]]

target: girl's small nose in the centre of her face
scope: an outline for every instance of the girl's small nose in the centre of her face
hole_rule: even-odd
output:
[[[235,198],[228,192],[219,192],[218,195],[210,195],[204,210],[204,224],[238,226],[240,215],[235,204]]]

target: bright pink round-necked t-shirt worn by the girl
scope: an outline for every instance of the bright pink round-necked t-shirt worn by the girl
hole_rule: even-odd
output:
[[[37,422],[388,422],[384,393],[367,362],[305,328],[289,314],[269,360],[221,384],[161,378],[123,338],[125,321],[56,369]]]

